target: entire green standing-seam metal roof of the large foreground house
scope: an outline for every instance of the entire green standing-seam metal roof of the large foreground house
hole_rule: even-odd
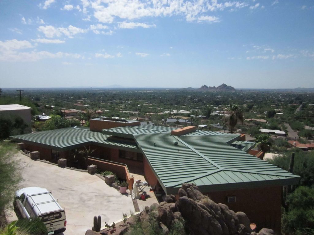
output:
[[[175,129],[159,126],[117,127],[100,133],[74,127],[11,138],[63,151],[84,144],[96,144],[143,152],[167,193],[177,193],[177,187],[184,182],[195,183],[201,191],[209,192],[292,185],[300,179],[300,176],[246,153],[255,143],[239,141],[238,134],[195,131],[172,136],[171,131]],[[110,136],[132,138],[136,143],[108,138]]]

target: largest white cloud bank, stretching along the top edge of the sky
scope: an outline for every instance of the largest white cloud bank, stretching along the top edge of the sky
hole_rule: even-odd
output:
[[[139,1],[139,0],[97,0],[88,2],[81,0],[83,9],[90,7],[93,15],[102,23],[112,23],[116,18],[119,19],[139,19],[143,17],[157,17],[157,16],[172,16],[183,15],[187,21],[196,21],[198,18],[208,12],[222,11],[225,8],[244,8],[248,6],[246,2],[225,2],[217,3],[217,0],[212,1],[183,1],[183,0],[153,0],[153,1]],[[212,20],[210,20],[212,21]]]

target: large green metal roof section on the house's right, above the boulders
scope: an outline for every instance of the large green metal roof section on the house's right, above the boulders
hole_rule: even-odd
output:
[[[246,153],[254,143],[234,141],[239,135],[198,131],[182,136],[170,133],[134,135],[138,146],[167,193],[182,183],[204,191],[297,184],[299,176]],[[173,141],[178,145],[174,145]],[[155,144],[155,146],[154,146]]]

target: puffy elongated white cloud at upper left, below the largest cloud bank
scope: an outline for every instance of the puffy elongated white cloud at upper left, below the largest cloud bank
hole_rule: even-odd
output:
[[[69,25],[68,28],[55,28],[52,25],[39,26],[38,31],[45,34],[47,38],[60,37],[62,34],[72,38],[75,34],[86,33],[87,29],[77,28],[75,26]]]

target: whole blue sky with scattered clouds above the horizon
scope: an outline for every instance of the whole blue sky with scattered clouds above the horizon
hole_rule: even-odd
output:
[[[314,87],[312,0],[2,0],[0,87]]]

